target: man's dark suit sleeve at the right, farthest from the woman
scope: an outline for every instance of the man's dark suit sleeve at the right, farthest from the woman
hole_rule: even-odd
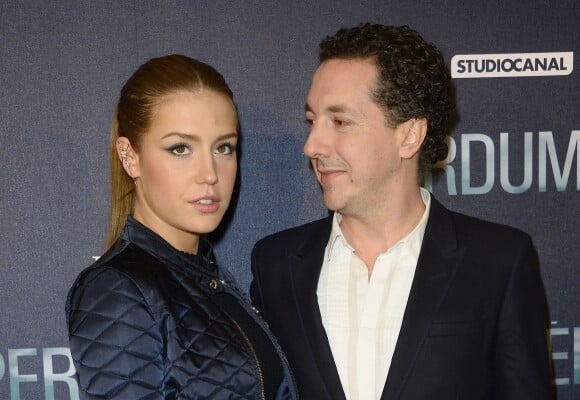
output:
[[[529,237],[520,248],[498,319],[495,398],[546,400],[552,398],[546,298]]]

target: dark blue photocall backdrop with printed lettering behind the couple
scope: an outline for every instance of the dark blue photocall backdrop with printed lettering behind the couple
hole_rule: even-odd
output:
[[[102,254],[108,132],[147,59],[183,53],[230,83],[243,141],[220,264],[244,289],[266,234],[323,217],[302,154],[320,40],[408,24],[444,53],[459,118],[450,208],[521,228],[550,307],[554,385],[580,399],[580,3],[532,1],[12,1],[0,3],[0,399],[78,399],[64,303]]]

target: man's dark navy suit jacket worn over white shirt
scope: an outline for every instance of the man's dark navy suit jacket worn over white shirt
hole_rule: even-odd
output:
[[[252,252],[252,301],[306,400],[345,399],[316,296],[331,225],[329,217],[271,235]],[[432,197],[381,400],[550,399],[547,328],[530,237]]]

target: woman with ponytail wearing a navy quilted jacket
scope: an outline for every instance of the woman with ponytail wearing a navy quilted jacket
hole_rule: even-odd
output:
[[[237,140],[232,92],[209,65],[154,58],[121,90],[110,249],[67,300],[86,397],[296,397],[280,348],[204,238],[230,203]]]

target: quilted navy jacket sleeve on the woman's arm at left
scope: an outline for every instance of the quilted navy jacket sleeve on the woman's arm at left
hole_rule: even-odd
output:
[[[108,268],[69,294],[70,348],[83,399],[163,399],[163,341],[140,289]]]

